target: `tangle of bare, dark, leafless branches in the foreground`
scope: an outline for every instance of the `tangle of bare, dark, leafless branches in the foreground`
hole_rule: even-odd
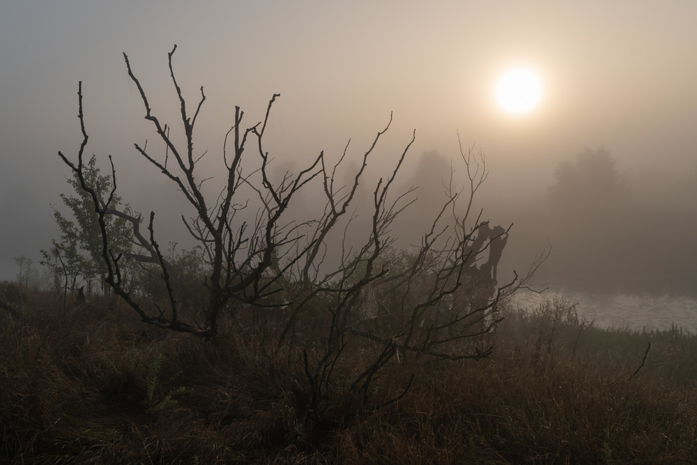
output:
[[[316,416],[328,408],[333,376],[352,344],[367,344],[373,349],[362,371],[351,378],[351,392],[358,397],[367,395],[376,372],[395,358],[459,360],[489,354],[490,346],[465,344],[464,340],[492,330],[500,319],[496,310],[501,300],[525,285],[530,273],[522,279],[516,274],[505,284],[496,282],[496,263],[508,229],[489,228],[482,212],[473,208],[475,193],[487,178],[482,153],[460,146],[459,163],[464,169],[453,168],[450,179],[445,180],[447,195],[427,221],[420,244],[399,250],[395,247],[399,231],[393,231],[392,226],[398,215],[408,215],[412,192],[394,194],[392,190],[415,132],[392,172],[370,187],[372,201],[367,211],[359,213],[368,216],[369,227],[349,232],[355,220],[358,187],[367,183],[369,162],[390,128],[392,116],[365,149],[349,185],[337,181],[337,172],[349,156],[348,144],[337,162],[330,162],[321,152],[303,169],[274,182],[270,174],[273,156],[264,141],[270,112],[279,97],[275,94],[258,123],[243,125],[244,113],[236,107],[217,160],[224,164],[224,176],[215,178],[220,182],[220,193],[206,197],[202,184],[207,180],[197,170],[205,153],[194,151],[194,128],[206,95],[201,87],[200,99],[191,112],[174,73],[175,51],[176,45],[168,62],[181,108],[185,135],[181,145],[153,113],[128,56],[123,57],[143,102],[145,119],[164,145],[160,155],[147,143],[135,144],[135,150],[169,178],[195,211],[192,218],[182,215],[181,220],[201,252],[199,264],[190,266],[195,268],[190,275],[203,281],[202,285],[196,283],[199,298],[185,297],[185,271],[177,266],[174,254],[165,257],[162,252],[153,227],[155,213],[150,213],[145,232],[141,231],[140,215],[118,208],[111,156],[108,192],[86,178],[88,135],[82,82],[78,98],[83,139],[77,162],[59,152],[91,199],[100,231],[105,282],[142,321],[206,340],[219,337],[223,320],[232,322],[231,330],[256,328],[273,335],[276,350],[287,350],[289,360],[293,353],[300,354],[309,384],[307,411]],[[464,179],[464,185],[458,178]],[[293,216],[291,206],[298,193],[306,190],[321,196],[325,207],[316,218],[302,220]],[[254,215],[248,215],[254,208]],[[108,224],[113,218],[130,224],[135,246],[128,254],[120,254],[111,246],[113,230]],[[492,250],[487,261],[485,257],[493,248],[497,252]],[[328,259],[332,254],[335,258]],[[157,267],[163,299],[129,287],[124,277],[126,260]],[[531,272],[541,260],[533,264]],[[487,263],[482,264],[484,261]]]

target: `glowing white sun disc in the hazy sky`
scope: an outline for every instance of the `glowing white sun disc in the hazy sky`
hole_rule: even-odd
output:
[[[496,83],[496,101],[512,114],[526,114],[539,104],[542,82],[527,68],[507,70]]]

